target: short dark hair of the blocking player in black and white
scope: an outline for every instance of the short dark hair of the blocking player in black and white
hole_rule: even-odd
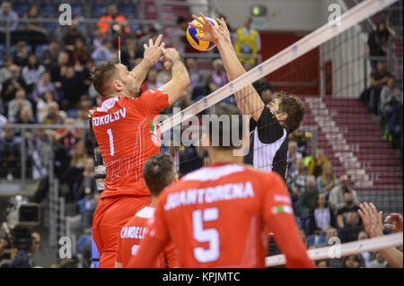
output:
[[[287,114],[285,128],[289,134],[292,134],[302,124],[304,115],[303,102],[285,91],[276,92],[274,96],[281,100],[279,111]]]

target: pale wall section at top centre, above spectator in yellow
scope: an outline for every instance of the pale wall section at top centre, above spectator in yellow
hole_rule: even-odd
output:
[[[250,17],[250,5],[267,6],[265,30],[315,30],[321,25],[322,0],[212,0],[233,28]]]

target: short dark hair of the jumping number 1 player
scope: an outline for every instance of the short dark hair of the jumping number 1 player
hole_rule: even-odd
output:
[[[118,59],[104,62],[101,65],[98,65],[92,73],[92,85],[102,96],[108,91],[110,80],[115,77],[119,78],[117,64],[119,64]]]

